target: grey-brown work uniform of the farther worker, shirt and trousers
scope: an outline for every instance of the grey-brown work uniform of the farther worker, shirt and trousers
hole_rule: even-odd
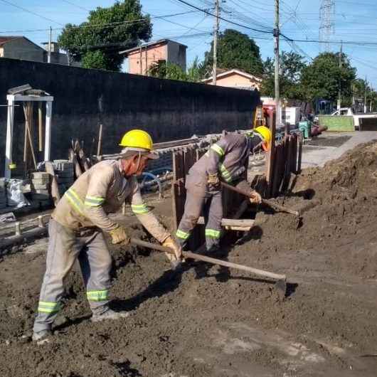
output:
[[[188,171],[186,176],[186,203],[184,215],[176,231],[176,239],[184,246],[201,212],[206,224],[206,248],[218,247],[221,236],[223,203],[221,188],[211,190],[208,176],[218,174],[222,181],[234,184],[244,191],[253,191],[248,181],[241,178],[248,164],[250,152],[260,144],[257,134],[250,137],[229,133],[222,137]]]

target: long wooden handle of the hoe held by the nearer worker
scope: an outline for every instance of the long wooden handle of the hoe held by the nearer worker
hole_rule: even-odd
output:
[[[155,243],[149,243],[146,241],[139,240],[138,238],[131,238],[131,243],[133,245],[142,246],[144,248],[164,251],[165,253],[171,253],[170,248],[166,248],[161,245],[156,245]],[[215,259],[213,257],[206,257],[205,255],[199,255],[196,253],[191,253],[191,251],[184,251],[182,252],[185,258],[191,258],[196,260],[202,260],[203,262],[212,263],[213,265],[221,265],[225,267],[235,268],[236,270],[243,270],[252,272],[255,275],[262,276],[262,277],[270,277],[271,279],[276,280],[285,280],[287,277],[285,275],[274,274],[273,272],[268,272],[264,270],[258,270],[257,268],[248,267],[245,265],[238,265],[237,263],[227,262],[225,260]]]

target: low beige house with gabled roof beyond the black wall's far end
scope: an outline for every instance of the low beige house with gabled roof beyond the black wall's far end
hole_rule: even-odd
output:
[[[212,85],[213,78],[206,78],[202,83]],[[246,90],[259,90],[261,78],[257,78],[250,73],[243,72],[242,70],[226,70],[225,72],[218,72],[216,75],[216,85],[225,87],[237,87],[238,89]]]

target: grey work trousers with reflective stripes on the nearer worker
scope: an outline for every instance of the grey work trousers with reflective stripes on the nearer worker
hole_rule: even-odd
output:
[[[51,329],[60,309],[63,282],[78,259],[83,273],[87,299],[93,312],[107,307],[110,288],[111,257],[102,232],[80,236],[51,219],[48,224],[46,273],[39,297],[34,331]]]

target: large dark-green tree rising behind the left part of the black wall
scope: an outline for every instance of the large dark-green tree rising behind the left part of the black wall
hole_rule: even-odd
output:
[[[124,59],[119,52],[149,41],[151,36],[152,23],[149,15],[142,14],[140,1],[124,0],[90,11],[79,26],[68,23],[58,43],[73,60],[83,60],[85,68],[119,71]]]

